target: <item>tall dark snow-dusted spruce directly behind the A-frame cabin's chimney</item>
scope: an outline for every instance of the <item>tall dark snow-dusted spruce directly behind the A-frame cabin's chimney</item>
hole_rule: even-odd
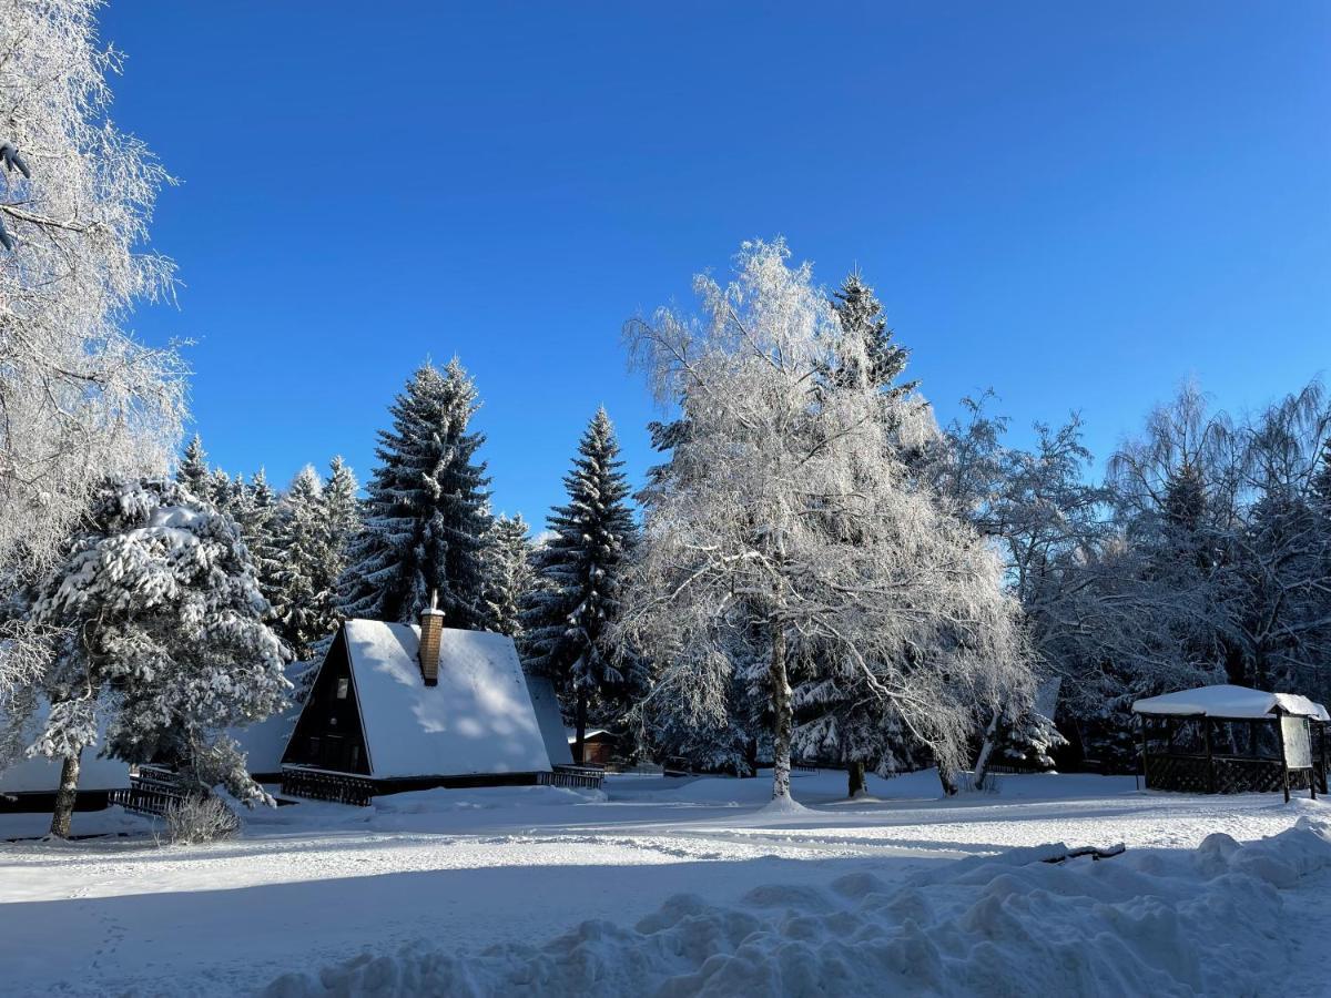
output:
[[[438,592],[446,627],[484,629],[484,538],[490,479],[470,432],[476,389],[454,358],[421,367],[379,431],[379,467],[366,488],[365,526],[339,584],[342,617],[410,623]]]

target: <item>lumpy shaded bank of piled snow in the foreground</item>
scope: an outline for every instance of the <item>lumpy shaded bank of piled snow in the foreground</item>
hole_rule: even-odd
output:
[[[1331,822],[1101,862],[1041,854],[974,857],[894,886],[870,873],[768,885],[729,906],[683,894],[634,927],[587,921],[543,946],[483,951],[417,943],[287,974],[265,994],[1255,994],[1279,987],[1300,931],[1282,894],[1331,868]]]

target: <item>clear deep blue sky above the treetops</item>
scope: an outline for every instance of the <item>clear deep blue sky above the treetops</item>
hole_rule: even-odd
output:
[[[473,373],[495,506],[539,522],[623,321],[744,238],[858,265],[946,419],[1079,410],[1103,458],[1197,377],[1331,367],[1331,5],[112,0],[117,122],[184,182],[156,246],[216,463],[362,480],[411,370]]]

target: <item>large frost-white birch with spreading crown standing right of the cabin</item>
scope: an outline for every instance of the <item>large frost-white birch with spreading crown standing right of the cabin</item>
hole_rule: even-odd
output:
[[[1032,683],[998,559],[897,456],[897,442],[937,432],[930,414],[869,385],[820,383],[857,346],[808,265],[787,257],[783,242],[745,244],[729,286],[696,278],[701,319],[660,310],[628,325],[688,430],[644,492],[620,616],[623,640],[658,663],[651,696],[713,721],[736,652],[763,652],[783,801],[793,668],[856,676],[944,766],[960,764],[973,697]]]

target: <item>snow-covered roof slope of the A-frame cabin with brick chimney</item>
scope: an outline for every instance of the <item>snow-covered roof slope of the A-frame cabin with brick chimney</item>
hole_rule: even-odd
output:
[[[427,687],[419,628],[349,620],[345,635],[373,777],[550,770],[511,637],[443,628]]]

